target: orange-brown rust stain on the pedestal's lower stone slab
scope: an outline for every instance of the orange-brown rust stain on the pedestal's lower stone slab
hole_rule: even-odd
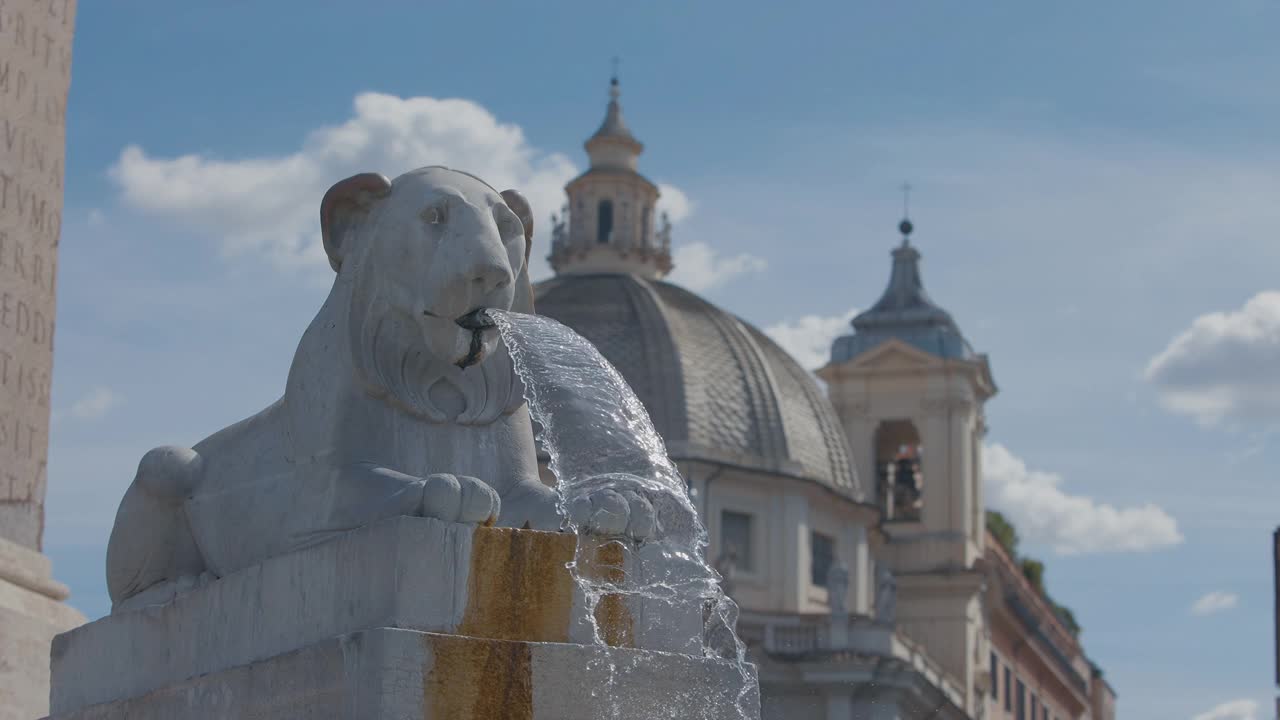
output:
[[[527,643],[431,633],[422,635],[422,643],[435,659],[422,678],[430,698],[425,720],[534,719],[534,662]]]

